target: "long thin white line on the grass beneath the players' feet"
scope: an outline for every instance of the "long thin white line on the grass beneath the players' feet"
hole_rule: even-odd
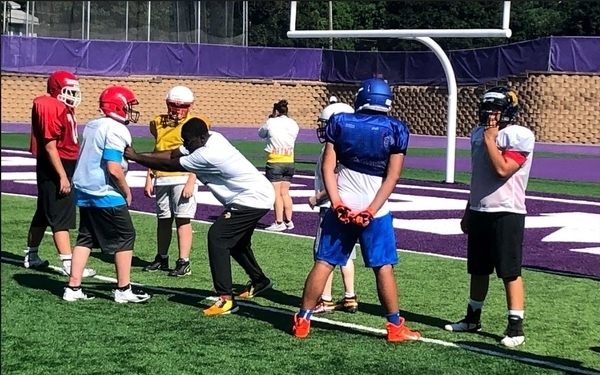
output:
[[[13,264],[23,264],[23,262],[20,260],[5,258],[5,257],[2,257],[2,261],[13,263]],[[50,266],[50,269],[57,271],[57,272],[60,272],[62,270],[62,268],[56,267],[56,266]],[[109,282],[109,283],[117,282],[117,279],[115,279],[115,278],[101,276],[101,275],[96,275],[93,278],[98,279],[100,281]],[[187,293],[187,292],[182,292],[179,290],[172,290],[169,288],[156,287],[156,286],[145,285],[145,284],[141,284],[141,283],[132,282],[131,284],[141,287],[141,288],[145,288],[148,290],[154,290],[154,291],[161,292],[161,293],[177,294],[180,296],[199,298],[202,300],[207,300],[207,299],[210,301],[217,300],[217,297],[214,297],[214,296],[203,296],[200,294]],[[293,316],[295,314],[294,311],[290,311],[290,310],[269,307],[269,306],[262,306],[262,305],[246,303],[246,302],[242,302],[242,301],[238,301],[238,305],[248,307],[251,309],[268,311],[271,313],[282,314],[282,315]],[[344,327],[344,328],[353,329],[356,331],[374,333],[374,334],[381,335],[381,336],[386,334],[386,330],[384,330],[384,329],[373,328],[373,327],[364,326],[361,324],[354,324],[354,323],[347,323],[347,322],[342,322],[342,321],[337,321],[337,320],[330,320],[330,319],[320,318],[320,317],[316,317],[316,316],[313,316],[311,318],[311,320],[320,322],[320,323],[324,323],[324,324],[328,324],[331,326]],[[495,351],[495,350],[491,350],[491,349],[482,349],[482,348],[478,348],[478,347],[467,345],[467,344],[457,344],[457,343],[453,343],[453,342],[449,342],[449,341],[430,339],[430,338],[426,338],[426,337],[421,337],[419,339],[419,341],[422,341],[422,342],[425,342],[428,344],[445,346],[445,347],[449,347],[449,348],[463,349],[463,350],[480,353],[480,354],[485,354],[485,355],[489,355],[489,356],[493,356],[493,357],[510,359],[513,361],[518,361],[518,362],[526,363],[529,365],[539,365],[539,366],[549,367],[549,368],[552,368],[555,370],[560,370],[560,371],[565,371],[565,372],[571,372],[571,373],[582,374],[582,375],[600,375],[600,372],[579,369],[576,367],[565,366],[565,365],[561,365],[561,364],[553,363],[553,362],[549,362],[549,361],[543,361],[543,360],[539,360],[539,359],[524,357],[524,356],[520,356],[519,354],[506,354],[504,352],[499,352],[499,351]]]

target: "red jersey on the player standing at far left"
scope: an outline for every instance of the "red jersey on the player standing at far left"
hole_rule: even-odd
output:
[[[61,159],[77,160],[79,139],[73,112],[60,100],[44,95],[33,100],[29,151],[38,158],[46,158],[44,146],[49,140],[56,140]]]

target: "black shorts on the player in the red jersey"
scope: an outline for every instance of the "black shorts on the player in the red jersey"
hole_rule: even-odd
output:
[[[61,160],[69,181],[75,172],[75,160]],[[75,229],[77,214],[75,193],[60,194],[60,179],[49,162],[37,160],[37,207],[31,225],[37,228],[50,227],[52,232]],[[51,169],[51,170],[50,170]]]

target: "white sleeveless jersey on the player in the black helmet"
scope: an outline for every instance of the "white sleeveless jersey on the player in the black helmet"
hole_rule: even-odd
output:
[[[481,212],[513,212],[526,214],[525,190],[529,181],[535,135],[526,127],[510,125],[498,132],[498,152],[519,159],[519,168],[509,178],[498,176],[487,154],[484,127],[471,132],[470,209]]]

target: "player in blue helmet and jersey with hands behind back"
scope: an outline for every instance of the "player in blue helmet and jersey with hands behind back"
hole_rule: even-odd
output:
[[[327,278],[335,266],[346,265],[357,240],[365,265],[375,272],[388,321],[387,340],[421,337],[400,317],[394,277],[398,254],[387,201],[402,172],[409,131],[402,121],[387,115],[392,98],[385,81],[366,80],[356,95],[356,112],[334,114],[327,121],[322,173],[331,209],[323,218],[316,262],[294,316],[293,333],[298,338],[308,336]]]

